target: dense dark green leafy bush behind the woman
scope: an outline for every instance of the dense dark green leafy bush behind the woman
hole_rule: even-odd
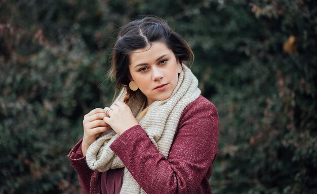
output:
[[[67,161],[109,104],[118,27],[166,19],[220,115],[213,193],[317,192],[316,1],[0,1],[0,193],[78,193]]]

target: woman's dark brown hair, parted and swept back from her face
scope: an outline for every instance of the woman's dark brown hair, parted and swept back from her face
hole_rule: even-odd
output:
[[[151,45],[153,42],[165,43],[174,52],[180,63],[189,63],[194,58],[188,43],[174,32],[166,21],[153,16],[132,21],[121,28],[112,51],[109,73],[115,80],[115,96],[122,87],[129,85],[131,78],[129,72],[130,54],[136,49]],[[130,97],[134,97],[137,92],[140,91],[131,91],[128,86],[124,102],[127,103]]]

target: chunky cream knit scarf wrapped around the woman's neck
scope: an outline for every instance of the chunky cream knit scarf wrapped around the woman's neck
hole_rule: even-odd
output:
[[[178,83],[170,98],[154,101],[139,124],[146,132],[157,150],[168,158],[174,139],[176,127],[185,107],[197,99],[201,91],[197,87],[198,80],[189,68],[183,66]],[[124,96],[124,95],[121,95]],[[145,101],[132,100],[128,103],[135,117],[142,111]],[[118,135],[111,131],[96,140],[87,150],[86,160],[92,170],[104,172],[115,168],[125,167],[123,162],[109,148]],[[146,193],[132,177],[127,168],[124,169],[122,188],[123,193]]]

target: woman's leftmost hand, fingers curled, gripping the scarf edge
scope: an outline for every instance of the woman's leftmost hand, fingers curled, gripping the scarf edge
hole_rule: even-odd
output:
[[[96,141],[98,134],[109,130],[110,126],[103,121],[108,114],[103,108],[95,108],[84,116],[84,137],[82,142],[82,152],[86,156],[88,147]]]

